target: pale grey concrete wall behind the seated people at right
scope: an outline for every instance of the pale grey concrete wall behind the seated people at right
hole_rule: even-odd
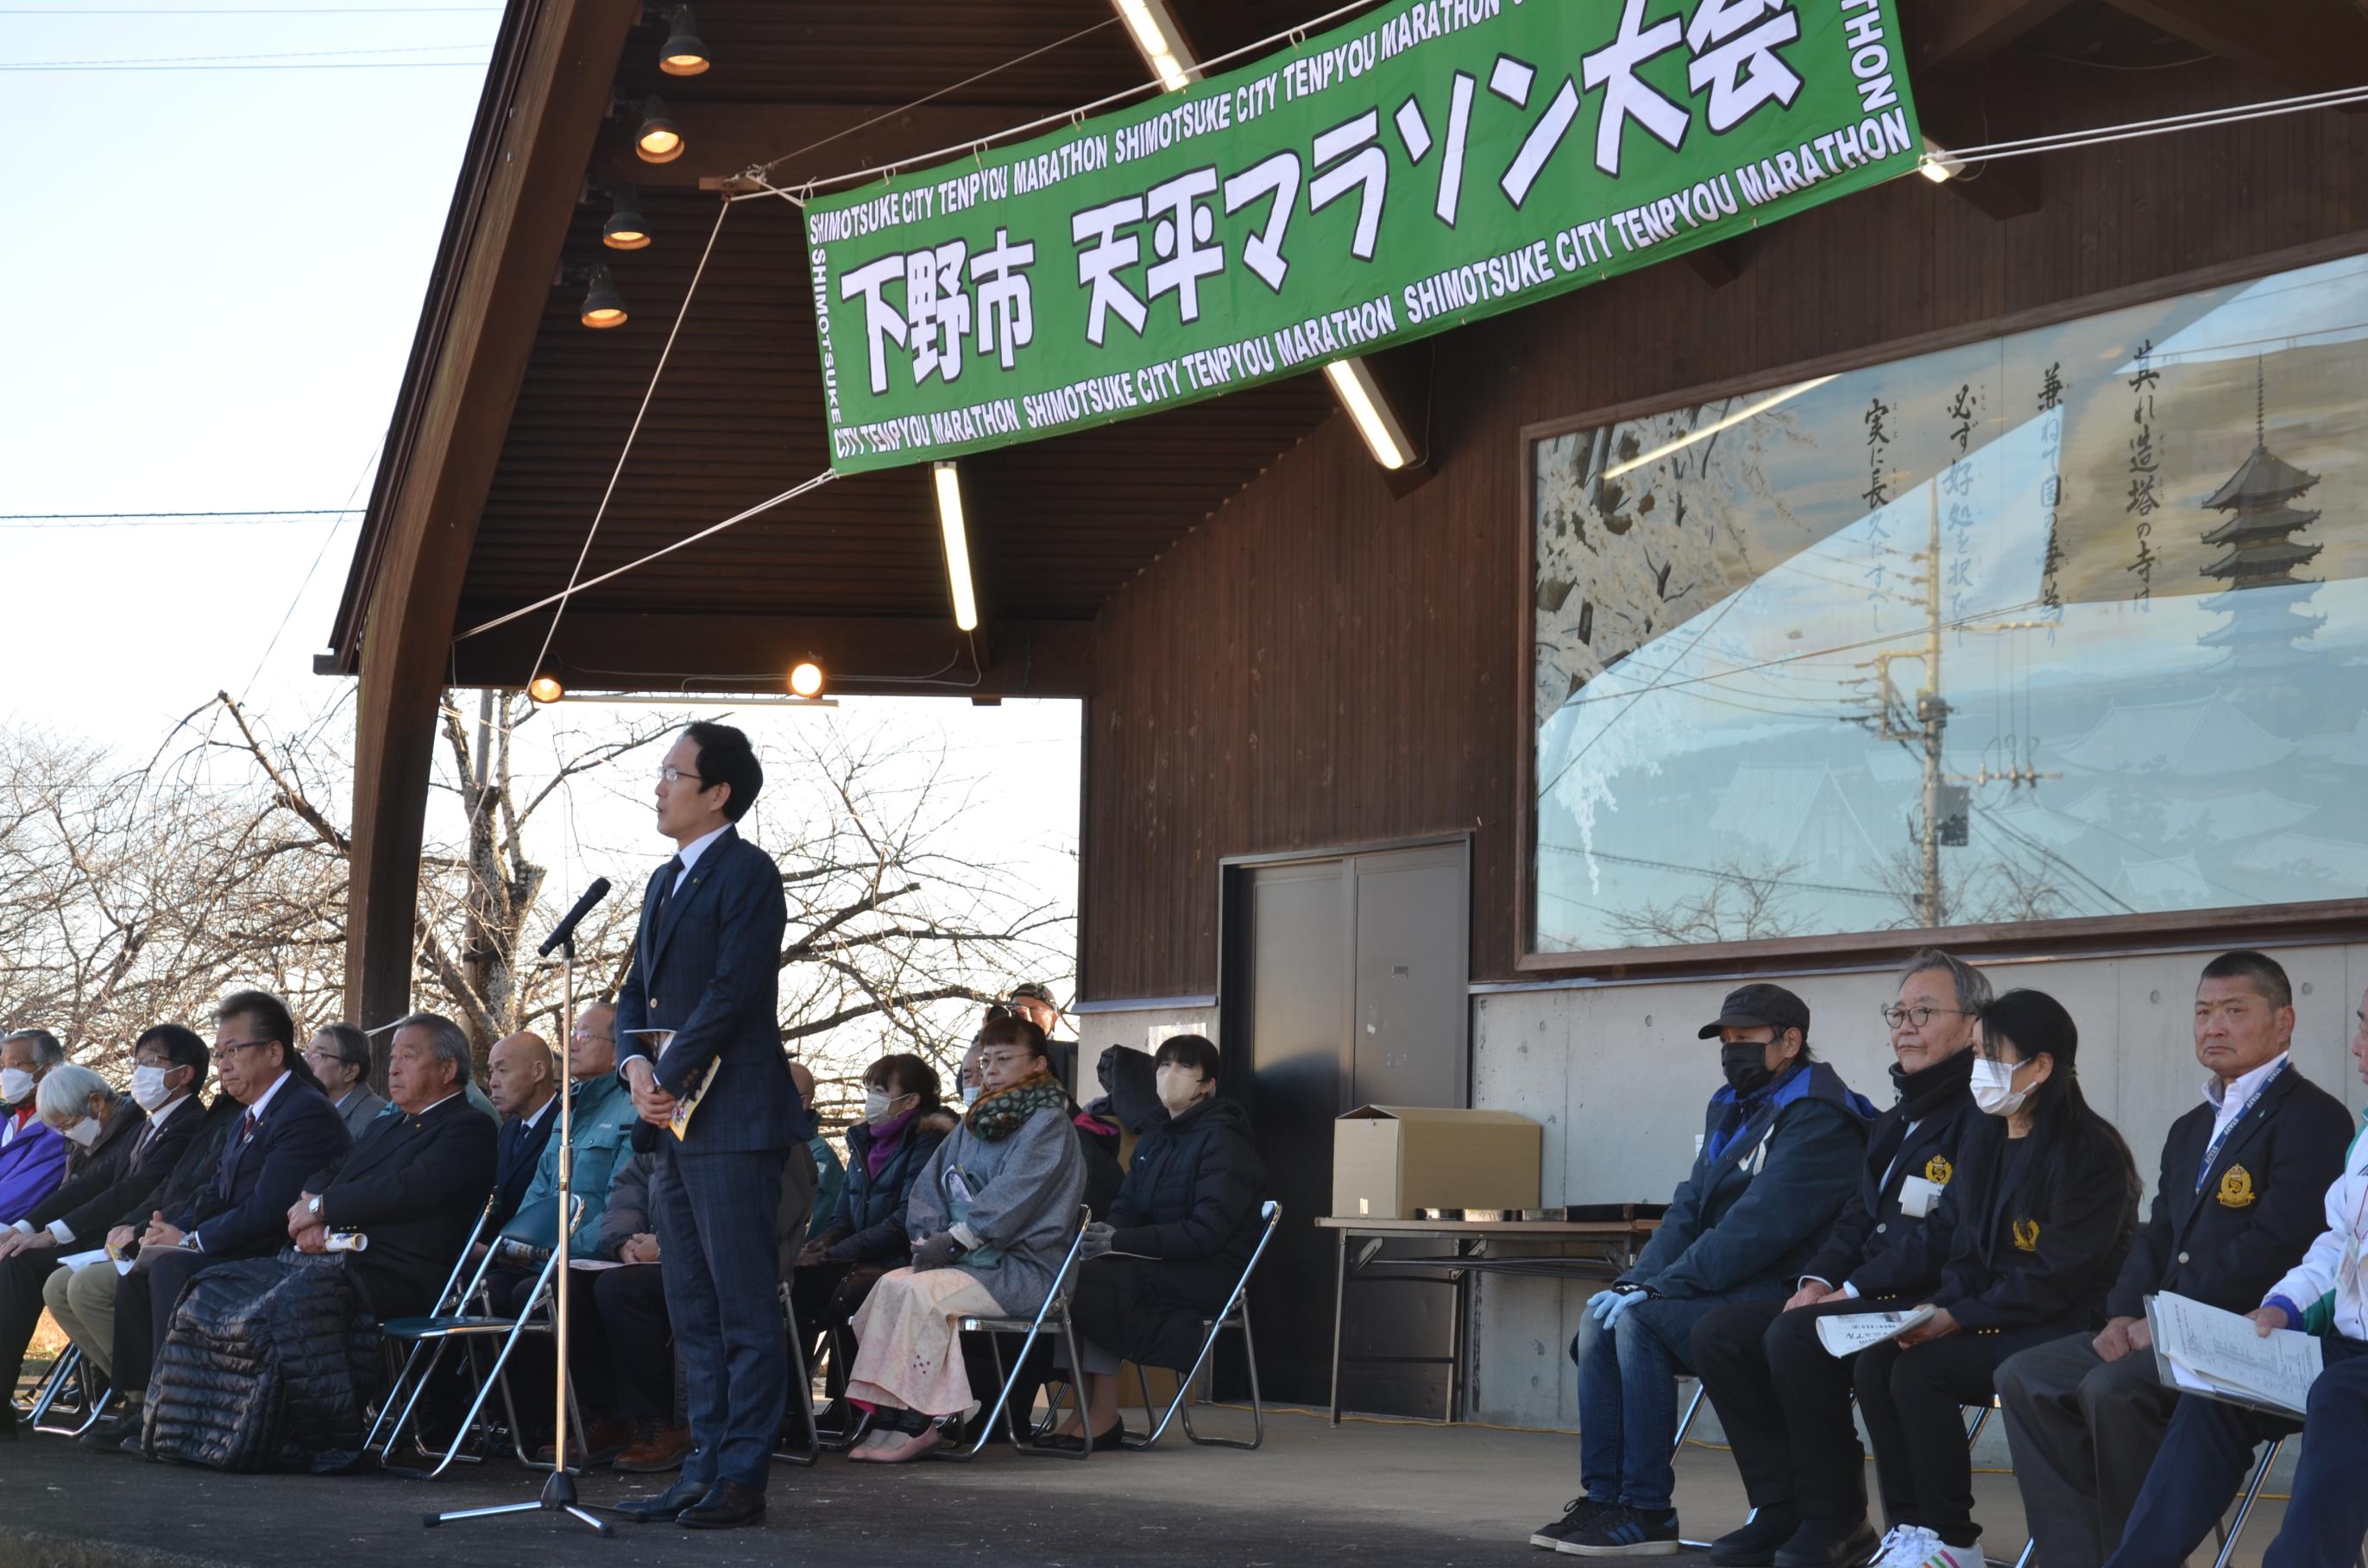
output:
[[[2351,1068],[2368,943],[2276,950],[2295,981],[2295,1066],[2359,1108]],[[2190,1009],[2209,952],[1991,964],[1991,985],[2036,985],[2081,1028],[2081,1090],[2119,1125],[2148,1182],[2171,1120],[2202,1092]],[[1480,995],[1473,1002],[1473,1104],[1546,1127],[1544,1201],[1667,1201],[1693,1163],[1703,1101],[1719,1082],[1714,1047],[1693,1037],[1719,1011],[1726,981],[1594,985]],[[1894,976],[1797,983],[1809,1040],[1878,1106],[1890,1104],[1890,1042],[1875,1009]],[[1473,1390],[1480,1421],[1577,1428],[1568,1360],[1594,1286],[1489,1277],[1473,1298]],[[1707,1414],[1707,1412],[1705,1412]]]

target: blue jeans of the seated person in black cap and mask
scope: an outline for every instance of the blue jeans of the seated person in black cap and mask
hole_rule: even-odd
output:
[[[1712,1300],[1639,1300],[1603,1329],[1579,1319],[1570,1360],[1579,1364],[1579,1485],[1594,1502],[1639,1514],[1672,1506],[1677,1471],[1677,1374],[1684,1345]]]

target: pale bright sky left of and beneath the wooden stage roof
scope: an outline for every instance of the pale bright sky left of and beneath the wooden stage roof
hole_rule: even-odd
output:
[[[0,78],[36,149],[9,182],[0,725],[144,756],[215,689],[282,732],[339,696],[310,666],[358,514],[21,514],[367,500],[497,24],[500,5],[452,0],[0,0]],[[559,727],[625,718],[571,706]],[[781,725],[888,725],[950,751],[957,777],[990,779],[976,831],[1073,893],[1075,703],[751,720]],[[601,846],[656,855],[644,793],[587,796],[590,820],[545,846],[554,883],[642,876]]]

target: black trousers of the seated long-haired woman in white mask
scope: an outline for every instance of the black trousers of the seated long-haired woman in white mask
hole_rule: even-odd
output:
[[[1875,1445],[1875,1464],[1902,1466],[1909,1502],[1894,1525],[1923,1525],[1951,1547],[1973,1547],[1973,1452],[1963,1405],[1989,1405],[1999,1362],[2063,1338],[2079,1324],[2046,1324],[1996,1334],[1958,1331],[1909,1350],[1885,1341],[1857,1357],[1859,1414]]]

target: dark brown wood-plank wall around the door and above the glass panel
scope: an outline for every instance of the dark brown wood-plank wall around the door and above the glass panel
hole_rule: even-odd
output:
[[[2008,88],[1999,135],[2287,92],[2216,62]],[[2337,242],[2368,227],[2361,140],[2316,111],[2046,154],[2041,208],[2003,223],[1894,180],[1769,227],[1726,287],[1665,263],[1435,339],[1437,478],[1392,500],[1336,417],[1106,602],[1085,992],[1215,990],[1224,855],[1449,829],[1473,831],[1471,973],[1516,978],[1525,424]]]

